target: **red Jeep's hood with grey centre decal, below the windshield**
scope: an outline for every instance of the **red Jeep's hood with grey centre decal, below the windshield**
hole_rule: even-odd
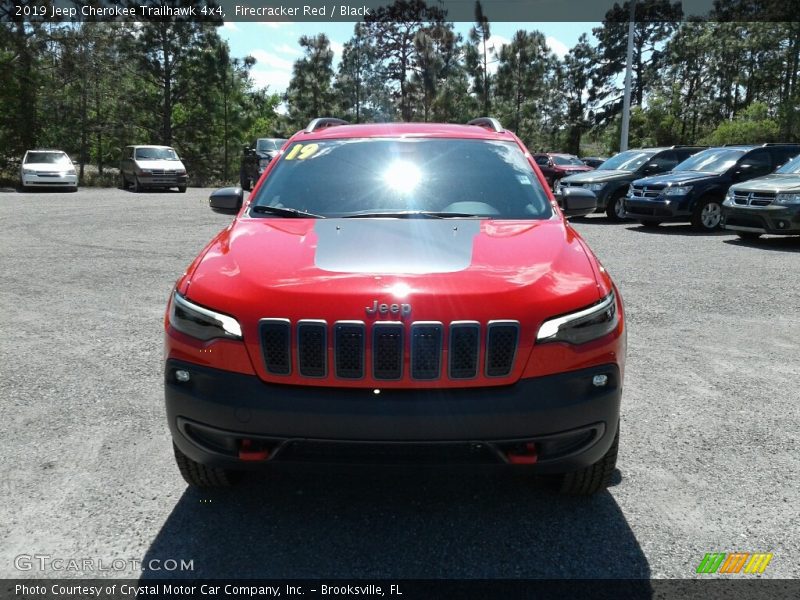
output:
[[[180,289],[236,317],[259,364],[260,319],[369,321],[375,303],[410,305],[408,321],[514,319],[532,340],[544,319],[608,293],[594,269],[560,218],[240,217]]]

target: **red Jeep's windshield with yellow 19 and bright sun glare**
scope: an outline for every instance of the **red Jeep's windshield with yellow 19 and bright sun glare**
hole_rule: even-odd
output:
[[[259,208],[261,207],[261,208]],[[503,219],[552,215],[513,142],[339,139],[292,144],[254,200],[252,216],[436,214]]]

